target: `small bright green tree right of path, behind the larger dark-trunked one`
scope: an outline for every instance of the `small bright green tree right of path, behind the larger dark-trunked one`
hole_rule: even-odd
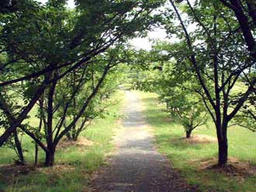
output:
[[[157,93],[166,104],[171,118],[183,125],[186,137],[190,138],[194,129],[206,124],[208,115],[197,93],[200,86],[195,77],[182,63],[175,65],[173,61],[168,61],[167,52],[162,52],[164,48],[170,50],[170,47],[172,45],[167,42],[155,43],[153,49],[146,53],[147,69],[137,69],[138,75],[133,77],[133,82],[137,83],[133,88]]]

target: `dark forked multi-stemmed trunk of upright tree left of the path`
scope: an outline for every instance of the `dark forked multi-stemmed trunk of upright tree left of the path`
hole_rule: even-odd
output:
[[[104,81],[111,67],[113,67],[112,60],[110,63],[107,63],[105,67],[103,67],[102,75],[99,78],[98,82],[96,82],[95,87],[92,89],[92,91],[88,93],[85,100],[82,101],[82,105],[79,106],[80,108],[78,109],[78,114],[74,117],[74,119],[71,120],[71,122],[64,129],[63,124],[66,118],[67,109],[71,101],[73,101],[73,98],[76,96],[77,92],[72,92],[71,97],[67,98],[64,111],[62,111],[63,114],[61,115],[61,118],[57,120],[57,124],[54,125],[54,114],[57,112],[57,109],[59,108],[57,101],[54,103],[54,93],[57,89],[57,82],[53,82],[52,84],[50,84],[50,87],[47,88],[47,90],[45,91],[45,97],[43,98],[43,108],[40,108],[40,115],[42,115],[42,117],[40,118],[43,119],[44,133],[41,134],[40,132],[38,132],[38,129],[32,129],[29,126],[21,125],[22,131],[29,135],[46,153],[46,166],[54,165],[54,155],[57,144],[60,142],[61,138],[64,135],[66,135],[72,127],[74,127],[74,125],[78,122],[78,119],[81,118],[81,115],[84,114],[85,109],[88,107],[90,101],[92,100],[92,98],[94,98],[95,94],[97,94],[97,92],[99,91],[99,88],[101,87],[102,82]],[[81,76],[81,79],[83,78],[84,76]],[[79,84],[76,88],[81,88],[81,84]],[[12,114],[12,111],[8,111],[9,106],[6,103],[5,106],[5,115],[10,119],[15,118]],[[44,144],[42,139],[46,139],[47,143]]]

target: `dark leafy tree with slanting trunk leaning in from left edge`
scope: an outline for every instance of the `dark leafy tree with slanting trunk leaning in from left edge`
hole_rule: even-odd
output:
[[[164,1],[77,1],[76,11],[65,9],[65,2],[26,1],[17,14],[1,15],[0,52],[8,59],[0,63],[0,87],[17,84],[31,95],[0,136],[0,146],[46,89],[54,90],[58,80],[118,41],[150,29],[150,12]]]

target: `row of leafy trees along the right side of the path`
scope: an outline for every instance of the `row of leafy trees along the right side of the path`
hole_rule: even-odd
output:
[[[155,43],[155,63],[137,87],[156,91],[189,137],[211,118],[219,166],[227,164],[227,129],[255,130],[256,4],[254,1],[168,1],[162,25],[170,41]]]

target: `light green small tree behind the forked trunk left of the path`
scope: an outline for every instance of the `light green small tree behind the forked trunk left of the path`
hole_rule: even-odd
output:
[[[116,61],[117,62],[117,61]],[[116,68],[116,67],[115,67]],[[79,109],[81,108],[83,101],[88,97],[88,93],[90,93],[94,88],[97,81],[99,81],[99,77],[102,73],[102,69],[95,61],[95,63],[91,63],[91,65],[88,67],[88,73],[87,77],[85,77],[85,82],[82,84],[81,88],[77,91],[76,96],[73,98],[73,101],[69,105],[64,121],[64,127],[67,127],[67,122],[70,122],[72,119],[74,119],[79,112]],[[80,133],[85,130],[88,125],[92,122],[94,118],[100,117],[104,118],[105,109],[109,107],[109,105],[113,105],[114,102],[110,101],[109,95],[112,94],[113,91],[115,91],[117,85],[119,84],[119,77],[120,74],[115,70],[112,69],[109,71],[108,76],[106,77],[105,81],[102,83],[101,89],[98,91],[98,93],[95,95],[95,97],[92,99],[92,101],[89,103],[87,109],[85,112],[81,115],[81,118],[79,119],[77,124],[74,124],[74,126],[71,128],[69,132],[67,132],[67,139],[76,141],[78,139],[78,136]],[[66,83],[62,83],[62,86],[67,87],[66,89],[60,89],[57,92],[57,100],[60,102],[60,108],[61,112],[58,113],[58,115],[62,115],[65,109],[65,105],[67,104],[67,95],[68,93],[74,92],[75,88],[77,87],[77,84],[81,83],[79,82],[80,77],[78,75],[78,71],[75,71],[75,73],[72,73],[70,75],[70,78],[67,77]],[[68,87],[68,85],[71,83],[71,87]],[[65,100],[65,101],[64,101]]]

